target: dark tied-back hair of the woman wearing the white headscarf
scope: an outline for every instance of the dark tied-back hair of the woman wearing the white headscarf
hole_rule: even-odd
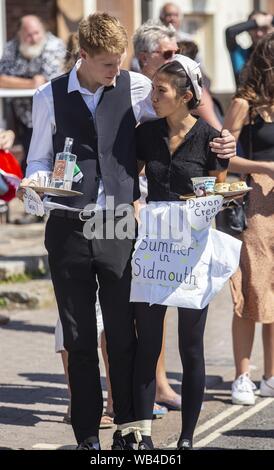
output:
[[[184,67],[182,64],[174,60],[172,62],[168,62],[167,64],[162,65],[157,72],[155,73],[164,73],[168,77],[170,77],[170,82],[172,86],[176,89],[177,97],[183,96],[183,94],[190,90],[193,94],[193,98],[187,103],[187,107],[189,110],[197,108],[200,104],[200,100],[196,98],[195,90],[192,85],[192,82],[187,75]],[[202,86],[202,80],[198,81],[199,85]]]

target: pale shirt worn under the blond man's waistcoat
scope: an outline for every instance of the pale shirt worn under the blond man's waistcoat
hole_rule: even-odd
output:
[[[93,116],[96,127],[95,110],[103,93],[104,86],[99,87],[95,93],[81,87],[77,77],[77,70],[80,65],[81,59],[77,61],[70,72],[68,93],[75,90],[81,93],[83,100]],[[131,103],[136,122],[139,123],[149,119],[155,119],[156,116],[150,98],[151,81],[139,73],[129,72],[129,75]],[[114,111],[112,110],[111,112]],[[27,158],[28,166],[26,177],[35,179],[38,171],[52,171],[53,169],[54,150],[52,136],[56,133],[56,123],[51,82],[42,85],[36,91],[33,97],[32,120],[33,134]],[[105,192],[102,180],[100,180],[99,184],[97,204],[105,208]],[[46,207],[49,209],[65,208],[74,210],[63,204],[48,201],[46,201]]]

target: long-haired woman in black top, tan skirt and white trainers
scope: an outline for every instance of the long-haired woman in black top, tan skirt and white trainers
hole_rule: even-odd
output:
[[[242,233],[240,267],[231,278],[232,325],[236,366],[232,402],[254,405],[249,363],[255,325],[262,323],[264,376],[262,396],[274,396],[274,33],[262,38],[241,77],[225,117],[246,157],[235,157],[229,169],[250,175],[248,228]],[[234,160],[234,159],[233,159]]]

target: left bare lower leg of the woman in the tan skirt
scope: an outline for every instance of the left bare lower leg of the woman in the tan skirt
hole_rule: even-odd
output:
[[[232,338],[236,377],[249,372],[250,356],[254,341],[255,322],[233,316]]]

